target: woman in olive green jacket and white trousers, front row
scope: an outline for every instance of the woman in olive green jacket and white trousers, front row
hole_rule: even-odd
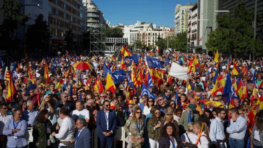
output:
[[[155,108],[153,111],[153,115],[148,121],[147,129],[148,129],[148,137],[150,148],[155,148],[157,140],[160,138],[160,127],[161,127],[161,112],[160,109]],[[158,147],[158,146],[157,146]]]

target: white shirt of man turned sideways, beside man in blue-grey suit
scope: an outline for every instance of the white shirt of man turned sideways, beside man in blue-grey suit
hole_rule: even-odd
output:
[[[56,134],[56,138],[60,141],[70,141],[74,139],[74,132],[75,132],[75,124],[72,118],[69,116],[62,120],[60,125],[60,129],[58,134]],[[65,146],[64,144],[60,143],[60,146]]]

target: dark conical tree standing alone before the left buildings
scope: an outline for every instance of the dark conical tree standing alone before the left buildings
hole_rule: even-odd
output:
[[[43,18],[43,14],[39,14],[37,19],[35,19],[35,23],[27,29],[26,44],[27,48],[31,51],[35,49],[49,49],[49,26]]]

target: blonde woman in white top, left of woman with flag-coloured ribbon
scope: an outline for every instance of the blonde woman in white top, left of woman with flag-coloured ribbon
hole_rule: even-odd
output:
[[[181,135],[181,140],[183,143],[191,143],[191,144],[195,144],[195,138],[197,137],[195,135],[195,133],[193,132],[193,125],[195,123],[194,122],[190,122],[188,123],[188,125],[185,127],[186,133],[184,133],[183,135]]]

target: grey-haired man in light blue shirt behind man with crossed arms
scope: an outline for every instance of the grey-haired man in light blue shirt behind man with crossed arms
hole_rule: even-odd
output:
[[[35,124],[38,113],[37,110],[34,110],[34,102],[27,101],[27,110],[23,111],[23,115],[28,127],[32,127]]]

